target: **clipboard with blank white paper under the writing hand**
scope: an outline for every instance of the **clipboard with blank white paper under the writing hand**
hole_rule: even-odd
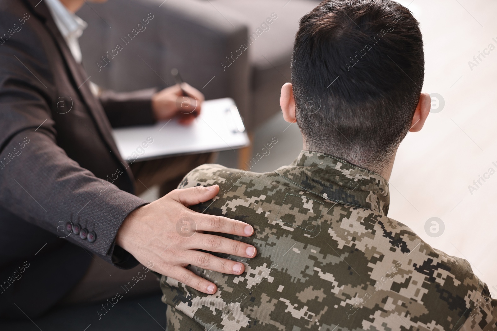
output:
[[[114,129],[121,157],[128,163],[169,156],[235,150],[250,144],[231,98],[204,101],[200,115],[184,126],[173,118],[151,126]]]

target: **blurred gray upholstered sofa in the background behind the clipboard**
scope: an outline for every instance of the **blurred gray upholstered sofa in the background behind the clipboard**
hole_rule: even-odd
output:
[[[118,91],[172,85],[170,70],[176,67],[183,79],[201,90],[207,99],[234,98],[248,131],[252,131],[279,111],[281,85],[291,79],[291,50],[299,19],[317,3],[312,0],[86,3],[78,12],[88,23],[80,40],[83,64],[91,75],[90,80]],[[149,13],[153,18],[143,25],[142,20]],[[122,49],[113,51],[117,44]],[[102,57],[106,57],[108,64]]]

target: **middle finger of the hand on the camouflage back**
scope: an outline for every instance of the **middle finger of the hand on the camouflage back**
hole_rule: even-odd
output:
[[[195,240],[189,243],[189,246],[189,249],[200,249],[204,251],[236,255],[242,258],[253,258],[257,253],[255,247],[253,247],[252,245],[248,245],[241,241],[232,240],[221,236],[204,233],[196,233]]]

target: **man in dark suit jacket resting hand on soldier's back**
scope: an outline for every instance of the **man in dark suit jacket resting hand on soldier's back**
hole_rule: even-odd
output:
[[[77,43],[84,22],[74,15],[83,1],[0,0],[0,318],[34,318],[61,299],[114,296],[112,283],[133,277],[121,269],[139,263],[215,293],[185,266],[233,274],[244,266],[199,250],[255,255],[234,240],[190,237],[252,234],[244,222],[187,208],[214,198],[218,186],[174,190],[150,204],[134,195],[135,178],[140,191],[158,181],[168,191],[208,155],[125,162],[111,127],[190,113],[203,96],[185,84],[189,100],[179,110],[178,86],[92,92]]]

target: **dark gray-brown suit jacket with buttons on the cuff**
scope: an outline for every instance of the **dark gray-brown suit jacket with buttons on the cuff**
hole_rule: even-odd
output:
[[[40,0],[0,0],[0,60],[0,318],[25,318],[14,304],[34,318],[91,254],[137,264],[114,240],[146,201],[133,195],[111,126],[152,123],[152,91],[95,98]]]

